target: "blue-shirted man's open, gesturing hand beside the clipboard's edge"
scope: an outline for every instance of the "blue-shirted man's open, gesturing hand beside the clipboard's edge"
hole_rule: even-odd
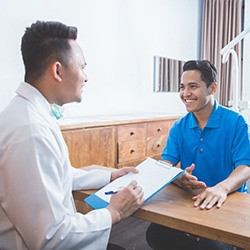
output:
[[[190,167],[187,167],[185,172],[179,178],[177,178],[174,183],[188,190],[206,188],[207,186],[203,181],[198,181],[197,177],[192,175],[194,168],[194,164],[192,164]]]

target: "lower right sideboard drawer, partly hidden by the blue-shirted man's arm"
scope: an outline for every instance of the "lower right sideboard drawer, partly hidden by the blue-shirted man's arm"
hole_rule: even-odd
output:
[[[168,135],[162,135],[159,137],[151,137],[147,139],[147,156],[152,157],[161,155],[162,150],[166,146]]]

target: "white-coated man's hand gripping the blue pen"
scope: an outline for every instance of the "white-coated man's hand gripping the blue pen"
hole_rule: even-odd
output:
[[[133,214],[144,202],[142,188],[132,181],[117,194],[113,194],[107,209],[111,213],[112,224]]]

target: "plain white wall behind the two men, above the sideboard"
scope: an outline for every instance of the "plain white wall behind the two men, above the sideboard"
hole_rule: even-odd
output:
[[[89,82],[67,115],[184,112],[177,93],[153,93],[153,56],[198,57],[199,1],[2,1],[0,111],[23,80],[25,27],[39,19],[78,27]]]

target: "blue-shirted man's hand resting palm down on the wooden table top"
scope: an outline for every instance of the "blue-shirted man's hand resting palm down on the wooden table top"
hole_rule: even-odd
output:
[[[220,208],[227,199],[227,192],[221,185],[209,187],[200,194],[193,197],[194,206],[200,206],[201,209],[210,209],[216,205]]]

